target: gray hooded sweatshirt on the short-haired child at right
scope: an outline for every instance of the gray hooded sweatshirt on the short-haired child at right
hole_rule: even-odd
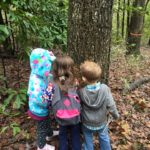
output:
[[[98,90],[89,91],[82,88],[79,91],[81,99],[82,123],[86,126],[100,127],[107,123],[107,115],[110,112],[114,119],[119,118],[115,102],[109,87],[100,84]]]

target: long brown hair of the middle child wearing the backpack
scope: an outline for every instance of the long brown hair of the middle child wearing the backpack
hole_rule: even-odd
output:
[[[69,56],[59,56],[53,62],[53,79],[63,92],[74,84],[74,61]]]

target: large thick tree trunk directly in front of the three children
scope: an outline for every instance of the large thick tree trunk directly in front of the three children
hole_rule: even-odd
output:
[[[68,52],[76,63],[98,62],[102,81],[109,77],[113,0],[70,0]]]

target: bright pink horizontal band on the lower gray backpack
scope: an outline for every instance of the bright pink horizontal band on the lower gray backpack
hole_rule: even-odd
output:
[[[80,115],[80,112],[77,109],[73,110],[57,110],[56,116],[58,118],[73,118]]]

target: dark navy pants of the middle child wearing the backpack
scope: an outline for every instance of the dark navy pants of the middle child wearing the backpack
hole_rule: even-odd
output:
[[[68,133],[70,138],[68,137]],[[59,150],[69,149],[70,143],[68,144],[68,139],[71,139],[70,142],[72,150],[81,150],[79,124],[59,127]]]

